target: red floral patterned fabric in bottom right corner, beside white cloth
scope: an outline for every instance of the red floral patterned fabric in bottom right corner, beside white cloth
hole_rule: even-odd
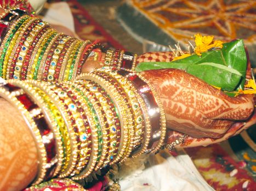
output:
[[[255,190],[256,182],[241,163],[236,163],[220,145],[186,149],[198,171],[215,190]]]

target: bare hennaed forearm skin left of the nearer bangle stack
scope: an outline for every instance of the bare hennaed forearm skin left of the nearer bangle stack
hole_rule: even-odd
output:
[[[36,176],[37,148],[19,111],[0,98],[0,190],[21,190]]]

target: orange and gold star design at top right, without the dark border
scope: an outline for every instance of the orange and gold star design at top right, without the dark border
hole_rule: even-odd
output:
[[[256,1],[131,0],[131,3],[183,45],[198,32],[224,41],[256,40]]]

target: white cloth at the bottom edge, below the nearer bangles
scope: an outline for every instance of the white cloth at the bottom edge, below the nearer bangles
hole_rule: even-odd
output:
[[[133,164],[130,162],[129,165]],[[190,157],[183,152],[173,157],[167,151],[161,151],[149,156],[144,170],[129,173],[119,182],[122,191],[214,190],[197,171]]]

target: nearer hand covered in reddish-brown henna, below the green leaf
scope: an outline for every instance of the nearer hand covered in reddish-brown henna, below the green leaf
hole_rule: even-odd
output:
[[[168,127],[196,138],[219,138],[232,126],[231,120],[246,120],[254,109],[252,97],[228,97],[182,70],[147,70],[141,74],[156,88]]]

